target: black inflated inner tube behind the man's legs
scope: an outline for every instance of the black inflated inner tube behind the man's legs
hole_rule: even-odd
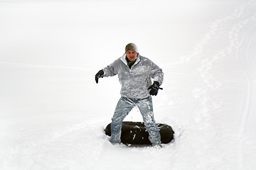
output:
[[[105,134],[111,136],[110,124],[105,128]],[[157,123],[161,142],[167,144],[174,140],[174,130],[171,126]],[[142,122],[122,122],[121,142],[125,145],[151,145],[149,133]]]

